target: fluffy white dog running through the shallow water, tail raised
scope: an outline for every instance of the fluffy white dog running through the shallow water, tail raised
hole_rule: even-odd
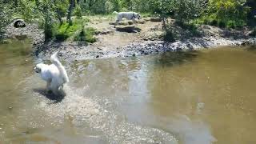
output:
[[[47,92],[52,91],[54,94],[59,94],[58,92],[63,89],[63,85],[69,82],[66,70],[62,63],[58,61],[57,54],[58,52],[50,57],[50,62],[53,64],[39,63],[34,67],[35,72],[40,74],[41,78],[47,82]]]

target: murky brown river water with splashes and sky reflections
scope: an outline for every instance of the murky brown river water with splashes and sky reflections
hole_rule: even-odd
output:
[[[254,47],[63,62],[53,98],[29,43],[0,45],[0,143],[256,143]]]

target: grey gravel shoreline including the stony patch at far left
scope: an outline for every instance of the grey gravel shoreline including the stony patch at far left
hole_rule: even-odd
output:
[[[14,21],[15,22],[15,21]],[[26,27],[15,28],[14,22],[6,26],[6,34],[4,38],[32,38],[33,54],[36,58],[42,60],[49,59],[50,55],[55,51],[59,51],[59,56],[67,62],[76,60],[85,60],[93,58],[116,58],[116,57],[132,57],[147,54],[158,54],[166,51],[177,50],[198,50],[202,48],[210,48],[217,46],[246,46],[256,45],[256,38],[240,37],[234,38],[232,35],[223,37],[215,32],[215,28],[209,31],[209,34],[199,38],[186,38],[177,42],[154,41],[138,41],[131,42],[126,46],[117,46],[110,50],[103,50],[91,44],[83,42],[47,42],[44,43],[43,30],[38,28],[37,24],[27,23]],[[233,34],[234,35],[234,34]],[[142,38],[143,39],[143,38]]]

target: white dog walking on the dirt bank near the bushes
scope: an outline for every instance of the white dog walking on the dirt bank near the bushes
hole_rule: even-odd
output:
[[[117,19],[115,21],[114,27],[118,25],[118,22],[122,21],[122,18],[126,18],[128,20],[133,20],[135,22],[135,19],[140,19],[142,18],[140,14],[135,13],[135,12],[116,12],[114,11],[113,14],[118,14]]]

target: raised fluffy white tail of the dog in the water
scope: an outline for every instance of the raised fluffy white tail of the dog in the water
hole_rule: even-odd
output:
[[[55,52],[51,57],[50,57],[50,62],[53,62],[53,64],[55,66],[57,66],[60,74],[62,75],[62,78],[64,80],[64,82],[69,82],[69,78],[67,77],[67,74],[66,74],[66,70],[64,68],[64,66],[62,66],[62,63],[58,61],[58,58],[57,58],[57,54],[58,52]]]

